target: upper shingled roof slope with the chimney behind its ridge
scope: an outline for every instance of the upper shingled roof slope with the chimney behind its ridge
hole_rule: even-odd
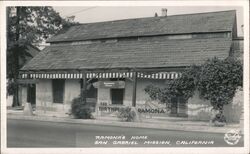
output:
[[[230,10],[81,24],[47,42],[232,31],[235,15],[236,11]]]

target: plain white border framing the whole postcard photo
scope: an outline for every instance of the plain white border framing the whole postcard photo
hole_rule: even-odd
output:
[[[6,6],[242,6],[244,7],[243,148],[6,148]],[[1,153],[249,153],[249,1],[1,1]],[[2,24],[3,23],[3,24]]]

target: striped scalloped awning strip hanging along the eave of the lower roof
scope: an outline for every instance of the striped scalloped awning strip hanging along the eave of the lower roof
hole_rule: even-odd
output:
[[[110,72],[110,73],[86,73],[87,78],[108,79],[108,78],[132,78],[133,72]],[[181,76],[179,72],[142,73],[138,72],[138,78],[147,79],[176,79]],[[81,79],[82,73],[22,73],[22,79]]]

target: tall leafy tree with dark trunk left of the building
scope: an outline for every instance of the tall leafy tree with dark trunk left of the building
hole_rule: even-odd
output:
[[[38,44],[64,28],[77,23],[69,23],[52,7],[8,7],[7,8],[7,78],[8,94],[13,94],[13,106],[18,102],[18,71],[31,55],[29,45]]]

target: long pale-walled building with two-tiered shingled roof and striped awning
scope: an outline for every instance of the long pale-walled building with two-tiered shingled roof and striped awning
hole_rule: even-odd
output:
[[[67,116],[72,99],[87,89],[97,117],[134,106],[145,118],[206,120],[210,103],[197,95],[174,99],[167,110],[144,89],[166,86],[190,65],[239,55],[235,39],[234,10],[81,24],[48,39],[50,46],[20,70],[20,78],[36,87],[38,115]]]

